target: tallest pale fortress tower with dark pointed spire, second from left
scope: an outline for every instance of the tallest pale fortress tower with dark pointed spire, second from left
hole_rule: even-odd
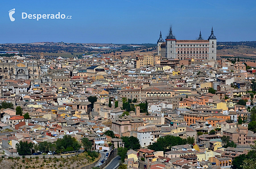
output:
[[[172,26],[170,26],[169,35],[166,37],[166,57],[167,59],[175,59],[176,58],[176,39],[175,36],[172,34]]]

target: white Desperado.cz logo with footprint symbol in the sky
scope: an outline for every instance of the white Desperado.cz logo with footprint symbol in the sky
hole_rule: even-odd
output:
[[[10,20],[13,22],[15,21],[15,18],[12,16],[15,13],[15,8],[9,11],[9,17]],[[71,15],[68,15],[66,17],[65,14],[27,14],[26,12],[21,13],[21,19],[72,19]]]

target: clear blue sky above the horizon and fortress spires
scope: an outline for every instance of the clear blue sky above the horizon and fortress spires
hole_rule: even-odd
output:
[[[15,8],[14,22],[9,10]],[[21,19],[21,13],[72,19]],[[156,43],[172,24],[178,40],[213,26],[217,41],[256,40],[255,0],[1,0],[0,43]]]

